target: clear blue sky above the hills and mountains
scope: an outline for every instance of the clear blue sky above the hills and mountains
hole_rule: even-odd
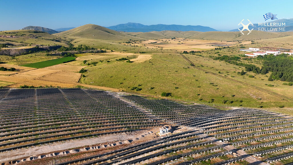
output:
[[[0,0],[0,30],[18,30],[25,26],[56,29],[88,23],[113,26],[135,22],[201,25],[227,31],[238,28],[242,19],[252,23],[268,22],[263,18],[268,12],[277,14],[279,19],[293,18],[292,6],[292,0]]]

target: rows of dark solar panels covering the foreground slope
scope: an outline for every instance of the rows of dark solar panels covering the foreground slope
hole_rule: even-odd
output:
[[[161,122],[151,122],[146,112],[159,121],[190,129],[58,165],[293,162],[293,118],[274,112],[219,110],[83,89],[4,89],[0,94],[2,152],[161,126]],[[252,156],[255,159],[248,159]]]

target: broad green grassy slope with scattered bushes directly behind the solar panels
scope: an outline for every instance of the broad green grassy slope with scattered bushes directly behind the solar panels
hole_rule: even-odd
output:
[[[285,98],[275,97],[266,91],[251,89],[251,86],[242,83],[233,82],[233,85],[231,85],[230,79],[192,68],[180,54],[153,53],[152,57],[150,61],[143,63],[125,63],[124,61],[110,60],[111,62],[109,63],[98,63],[96,66],[90,65],[85,68],[89,72],[84,73],[86,77],[81,78],[80,82],[130,92],[133,91],[131,90],[132,87],[141,84],[142,86],[139,88],[142,88],[142,90],[137,91],[138,93],[160,97],[162,92],[166,92],[172,93],[173,97],[170,97],[172,99],[198,103],[209,102],[211,105],[241,105],[243,107],[285,105],[285,107],[292,107],[292,103]],[[200,56],[194,57],[198,57],[196,60],[205,61],[211,66],[214,64],[214,60]],[[224,62],[221,63],[224,65],[223,67],[226,67]],[[216,67],[216,64],[214,67]],[[229,67],[233,68],[233,65],[230,65]],[[202,68],[209,67],[204,66]],[[237,74],[233,75],[240,77]],[[151,87],[154,88],[151,89]],[[175,89],[175,87],[180,90]],[[235,96],[232,97],[231,95]],[[258,98],[262,98],[262,100]],[[229,101],[223,104],[223,100]],[[230,101],[233,102],[230,103]]]

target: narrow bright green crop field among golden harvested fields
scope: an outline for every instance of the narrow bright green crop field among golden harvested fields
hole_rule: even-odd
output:
[[[63,62],[68,62],[70,60],[75,60],[75,57],[62,57],[62,58],[57,58],[57,59],[53,59],[53,60],[47,60],[47,61],[41,61],[41,62],[37,62],[37,63],[25,64],[25,65],[21,65],[21,66],[26,66],[26,67],[30,67],[30,68],[45,68],[45,67],[48,67],[48,66],[61,64]]]

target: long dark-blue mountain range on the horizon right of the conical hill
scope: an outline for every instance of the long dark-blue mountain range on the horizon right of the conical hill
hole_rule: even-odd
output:
[[[119,24],[116,26],[109,26],[106,27],[115,31],[125,31],[125,32],[150,32],[150,31],[217,31],[216,29],[207,27],[207,26],[183,26],[183,25],[164,25],[164,24],[157,24],[157,25],[143,25],[141,23],[125,23]]]

